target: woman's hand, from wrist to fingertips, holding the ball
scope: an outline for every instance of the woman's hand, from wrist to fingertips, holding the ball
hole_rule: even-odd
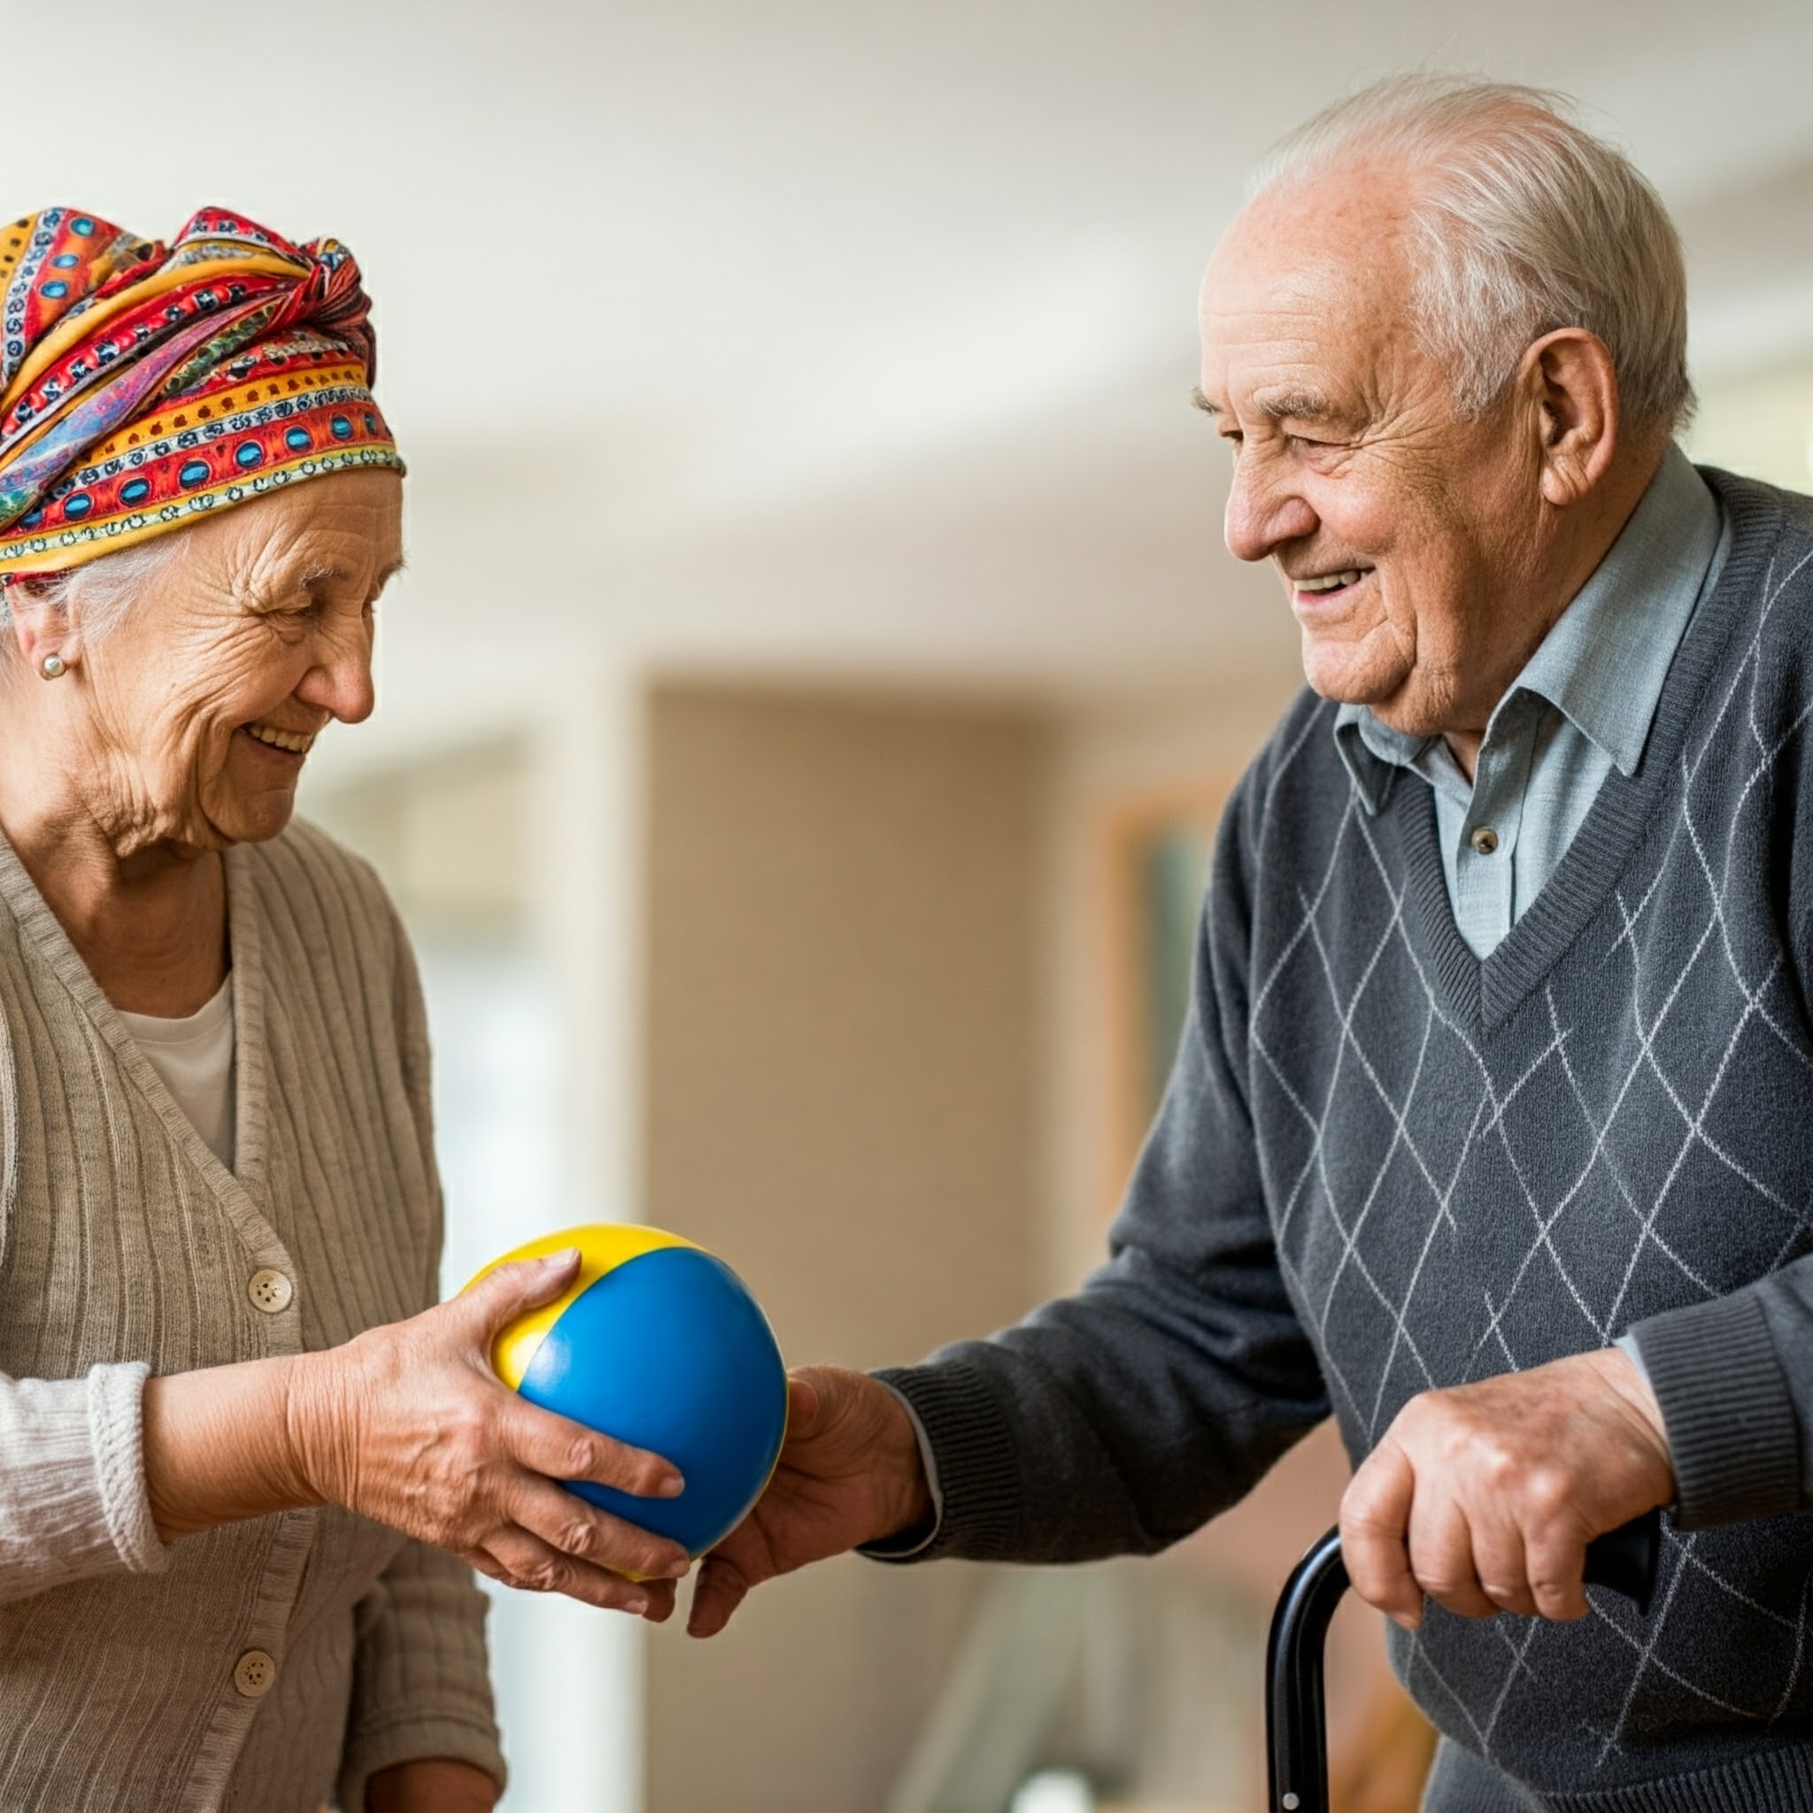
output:
[[[577,1267],[578,1253],[500,1265],[435,1309],[308,1356],[290,1391],[290,1440],[323,1499],[448,1548],[506,1586],[662,1619],[687,1552],[557,1481],[674,1498],[680,1474],[537,1409],[491,1371],[497,1331],[553,1302]]]

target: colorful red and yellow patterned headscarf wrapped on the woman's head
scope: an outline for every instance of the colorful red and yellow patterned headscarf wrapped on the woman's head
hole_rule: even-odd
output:
[[[285,484],[402,470],[352,252],[203,208],[170,245],[44,208],[0,227],[0,577]]]

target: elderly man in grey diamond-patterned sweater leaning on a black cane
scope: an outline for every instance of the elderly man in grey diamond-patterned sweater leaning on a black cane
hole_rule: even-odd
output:
[[[1686,462],[1684,341],[1661,203],[1545,96],[1392,82],[1276,154],[1198,402],[1311,691],[1111,1258],[810,1371],[696,1634],[856,1545],[1162,1548],[1333,1411],[1429,1808],[1813,1808],[1813,506]],[[1588,1606],[1664,1503],[1650,1619]]]

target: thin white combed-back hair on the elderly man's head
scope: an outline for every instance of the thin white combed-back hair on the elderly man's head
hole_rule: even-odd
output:
[[[1323,109],[1255,170],[1249,196],[1383,152],[1421,178],[1411,207],[1423,341],[1481,415],[1532,341],[1605,341],[1624,413],[1677,428],[1688,383],[1686,267],[1661,196],[1583,131],[1565,94],[1470,76],[1392,76]]]

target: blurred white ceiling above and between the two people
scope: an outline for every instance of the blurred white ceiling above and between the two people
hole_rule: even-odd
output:
[[[415,466],[392,736],[519,709],[528,624],[1041,689],[1276,664],[1182,401],[1195,279],[1265,145],[1389,69],[1588,103],[1681,212],[1702,377],[1813,344],[1808,0],[54,16],[0,0],[0,208],[223,201],[364,263]]]

